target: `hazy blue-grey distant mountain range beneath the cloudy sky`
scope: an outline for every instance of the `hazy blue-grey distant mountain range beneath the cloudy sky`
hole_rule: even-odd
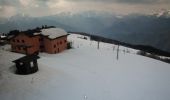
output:
[[[27,30],[53,25],[67,31],[86,32],[131,44],[151,45],[170,52],[170,11],[126,16],[107,12],[63,12],[52,16],[30,17],[18,14],[0,19],[0,32]]]

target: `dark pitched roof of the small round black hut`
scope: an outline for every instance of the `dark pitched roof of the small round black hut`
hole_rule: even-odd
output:
[[[12,62],[14,63],[17,63],[17,62],[30,62],[30,61],[33,61],[33,60],[36,60],[36,59],[39,59],[40,57],[37,56],[37,55],[27,55],[27,56],[24,56],[24,57],[21,57],[17,60],[14,60]]]

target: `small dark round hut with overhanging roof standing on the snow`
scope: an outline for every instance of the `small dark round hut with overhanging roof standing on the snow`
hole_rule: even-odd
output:
[[[16,73],[21,75],[27,75],[38,71],[37,59],[38,55],[26,55],[13,62],[16,64]]]

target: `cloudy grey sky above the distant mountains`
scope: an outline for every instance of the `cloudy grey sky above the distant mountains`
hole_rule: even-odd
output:
[[[41,17],[82,11],[149,14],[162,9],[170,9],[170,0],[0,0],[1,18],[16,14]]]

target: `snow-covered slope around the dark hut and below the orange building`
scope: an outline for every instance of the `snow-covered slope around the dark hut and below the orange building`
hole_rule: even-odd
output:
[[[14,74],[24,56],[0,50],[0,100],[170,100],[170,65],[137,50],[70,35],[73,49],[40,53],[39,71]],[[2,49],[2,47],[1,47]],[[126,53],[124,51],[130,51]]]

